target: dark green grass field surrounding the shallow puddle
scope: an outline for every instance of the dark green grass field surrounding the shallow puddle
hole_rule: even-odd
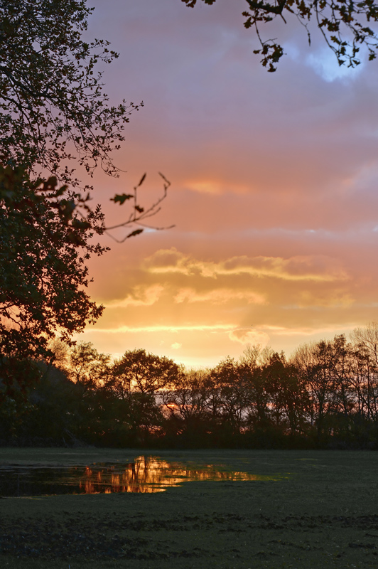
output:
[[[286,478],[3,498],[1,569],[378,568],[376,452],[0,449],[0,467],[140,454]]]

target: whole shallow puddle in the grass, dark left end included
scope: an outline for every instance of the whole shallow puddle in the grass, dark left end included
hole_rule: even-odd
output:
[[[128,464],[94,463],[87,467],[0,467],[0,496],[45,494],[112,494],[162,492],[193,480],[277,480],[221,466],[168,462],[159,457],[136,457]]]

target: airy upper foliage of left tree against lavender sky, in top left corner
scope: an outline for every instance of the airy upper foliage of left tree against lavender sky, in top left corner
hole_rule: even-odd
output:
[[[110,154],[139,108],[108,104],[96,65],[118,54],[82,39],[91,12],[85,0],[0,1],[0,154],[73,186],[71,159],[115,173]]]

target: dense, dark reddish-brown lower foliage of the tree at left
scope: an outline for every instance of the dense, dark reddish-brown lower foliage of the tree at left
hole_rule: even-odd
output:
[[[56,179],[32,182],[21,168],[0,166],[0,353],[38,358],[58,332],[64,341],[102,313],[90,300],[86,260],[101,255],[99,208],[85,220]]]

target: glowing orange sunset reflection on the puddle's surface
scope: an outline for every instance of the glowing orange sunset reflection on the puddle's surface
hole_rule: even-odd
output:
[[[97,472],[93,472],[94,470]],[[168,462],[158,457],[136,457],[129,464],[112,466],[96,465],[86,467],[84,477],[80,480],[80,489],[85,494],[104,492],[163,492],[169,486],[178,486],[183,482],[224,480],[252,481],[277,480],[278,477],[259,476],[247,472],[230,472],[216,468],[212,464],[203,467]]]

